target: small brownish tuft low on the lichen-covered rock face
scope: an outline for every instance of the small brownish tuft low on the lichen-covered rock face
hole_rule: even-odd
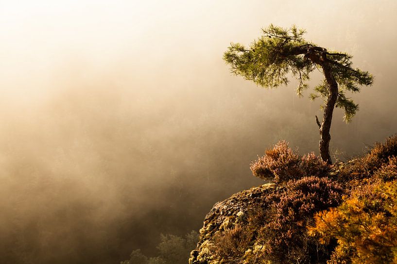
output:
[[[242,257],[252,244],[253,232],[249,228],[235,225],[214,235],[211,251],[219,259],[231,260]]]

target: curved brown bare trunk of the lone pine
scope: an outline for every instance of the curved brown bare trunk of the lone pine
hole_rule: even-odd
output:
[[[333,109],[335,107],[336,99],[338,98],[338,83],[332,75],[329,64],[327,62],[323,62],[321,66],[328,83],[329,94],[327,105],[324,109],[324,119],[320,125],[320,156],[323,161],[328,164],[332,164],[331,156],[329,155],[329,141],[331,140],[329,129],[331,128]]]

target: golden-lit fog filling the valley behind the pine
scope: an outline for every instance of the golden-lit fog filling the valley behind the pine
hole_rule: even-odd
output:
[[[347,158],[397,131],[397,2],[0,1],[0,263],[111,264],[262,184],[250,161],[280,139],[318,153],[319,104],[222,61],[270,23],[354,56],[374,85],[334,113]],[[312,86],[321,78],[314,73]]]

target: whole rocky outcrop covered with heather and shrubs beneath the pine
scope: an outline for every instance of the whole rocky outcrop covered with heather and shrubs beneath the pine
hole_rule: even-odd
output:
[[[328,165],[285,141],[251,163],[271,183],[214,205],[190,264],[397,264],[397,136]]]

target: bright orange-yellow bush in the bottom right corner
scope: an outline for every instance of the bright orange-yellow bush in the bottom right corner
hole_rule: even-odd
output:
[[[315,216],[312,236],[338,246],[329,264],[397,263],[397,182],[367,184],[337,208]]]

